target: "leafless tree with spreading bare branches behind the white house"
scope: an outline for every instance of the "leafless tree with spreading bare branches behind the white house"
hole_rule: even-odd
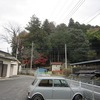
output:
[[[18,35],[21,32],[21,28],[17,24],[9,23],[7,26],[3,26],[5,33],[1,35],[3,39],[8,44],[11,44],[12,53],[17,58],[19,38]]]

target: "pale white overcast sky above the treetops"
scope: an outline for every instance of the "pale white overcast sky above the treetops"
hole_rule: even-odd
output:
[[[70,18],[79,23],[100,26],[100,0],[0,0],[0,34],[2,26],[16,23],[25,27],[32,15],[40,21],[48,19],[56,25],[68,25]],[[9,45],[0,40],[0,50],[7,51]]]

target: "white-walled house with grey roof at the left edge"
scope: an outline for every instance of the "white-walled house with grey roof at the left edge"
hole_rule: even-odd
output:
[[[0,50],[0,77],[17,75],[19,63],[15,57]]]

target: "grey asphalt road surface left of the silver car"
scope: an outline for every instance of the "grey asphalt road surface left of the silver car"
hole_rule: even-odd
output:
[[[27,100],[27,89],[33,80],[33,76],[0,79],[0,100]]]

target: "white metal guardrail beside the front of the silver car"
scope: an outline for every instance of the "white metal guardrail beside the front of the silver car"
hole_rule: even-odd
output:
[[[71,79],[67,79],[67,81],[71,86],[80,86],[84,90],[83,94],[87,100],[100,100],[100,86],[94,85],[93,80],[92,84]]]

